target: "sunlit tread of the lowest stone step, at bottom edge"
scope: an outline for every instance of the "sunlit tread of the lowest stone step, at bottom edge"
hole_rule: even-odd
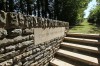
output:
[[[57,59],[57,58],[53,58],[51,61],[50,61],[50,64],[52,66],[74,66],[70,63],[67,63],[65,61],[62,61],[60,59]]]

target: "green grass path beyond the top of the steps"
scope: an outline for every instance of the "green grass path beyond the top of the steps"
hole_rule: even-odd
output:
[[[99,34],[100,27],[96,27],[85,20],[80,25],[77,25],[71,29],[69,29],[69,33],[88,33],[88,34]]]

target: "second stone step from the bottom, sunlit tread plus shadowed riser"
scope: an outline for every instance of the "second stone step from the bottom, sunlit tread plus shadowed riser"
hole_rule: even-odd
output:
[[[83,55],[83,54],[78,54],[75,52],[70,52],[67,50],[59,49],[56,53],[56,56],[61,56],[61,57],[66,58],[66,59],[75,60],[78,63],[86,64],[86,66],[98,66],[98,59],[97,58]]]

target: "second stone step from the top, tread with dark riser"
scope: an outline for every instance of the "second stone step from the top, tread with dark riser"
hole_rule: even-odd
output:
[[[100,42],[98,42],[98,40],[92,40],[92,39],[65,37],[63,41],[77,43],[77,44],[84,44],[84,45],[88,45],[88,46],[95,46],[95,47],[100,46]]]

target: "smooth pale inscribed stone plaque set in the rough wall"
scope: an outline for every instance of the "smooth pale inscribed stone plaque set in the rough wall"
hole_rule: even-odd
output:
[[[65,35],[65,27],[34,28],[35,45],[50,41]]]

